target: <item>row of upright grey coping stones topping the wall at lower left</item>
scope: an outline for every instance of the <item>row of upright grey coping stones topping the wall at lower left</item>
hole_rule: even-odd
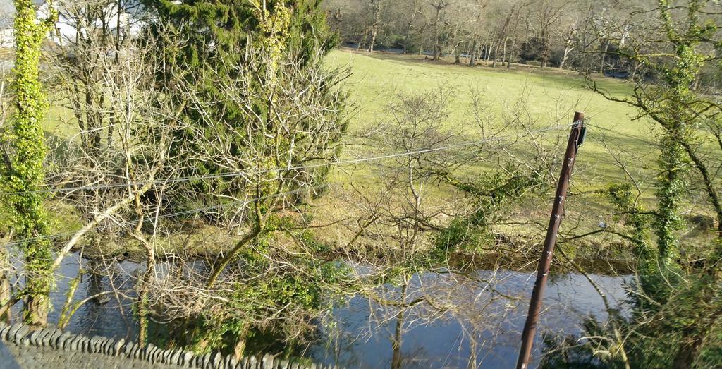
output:
[[[0,323],[0,339],[19,347],[49,347],[56,351],[83,352],[86,354],[105,355],[125,360],[143,360],[149,364],[171,365],[178,368],[220,368],[220,369],[326,369],[324,365],[300,365],[287,360],[279,360],[271,355],[263,357],[243,357],[236,360],[235,356],[223,356],[220,353],[197,355],[187,350],[161,350],[153,344],[140,347],[134,342],[124,339],[106,337],[84,337],[61,331],[61,329],[44,328],[30,329],[29,326],[13,324],[8,326]],[[22,355],[22,354],[21,354]],[[122,365],[121,365],[122,366]]]

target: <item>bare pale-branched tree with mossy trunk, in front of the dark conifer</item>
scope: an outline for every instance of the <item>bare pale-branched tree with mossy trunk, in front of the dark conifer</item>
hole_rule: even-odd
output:
[[[329,265],[304,233],[308,222],[301,209],[326,188],[319,178],[335,160],[335,142],[345,127],[344,92],[338,86],[345,74],[326,71],[320,55],[305,66],[292,54],[284,56],[273,79],[266,78],[271,57],[267,51],[249,46],[247,57],[235,78],[218,76],[222,96],[238,108],[244,124],[209,119],[204,123],[222,125],[217,137],[207,140],[193,132],[186,137],[197,141],[180,148],[192,150],[184,157],[212,161],[229,173],[224,178],[230,189],[209,191],[205,195],[216,201],[191,215],[198,222],[222,220],[214,223],[230,238],[231,246],[209,255],[201,269],[193,267],[190,251],[181,250],[175,253],[167,277],[149,267],[149,277],[142,281],[147,306],[162,311],[166,321],[183,330],[188,329],[184,324],[196,319],[206,322],[206,329],[179,336],[181,343],[199,350],[209,342],[220,344],[211,337],[224,332],[214,327],[233,322],[237,329],[232,349],[239,356],[253,329],[283,332],[284,339],[293,341],[308,332],[309,319],[318,314],[318,296],[305,289],[323,286],[321,278]],[[202,99],[190,82],[178,88],[189,108],[207,116],[202,113],[212,102]],[[179,124],[186,131],[201,129],[196,122]],[[243,150],[231,152],[239,140]],[[201,176],[199,181],[215,187],[213,176]],[[193,196],[198,190],[186,184],[156,191]],[[172,227],[158,221],[164,216],[162,211],[150,215],[152,233],[144,230],[147,241],[142,241],[149,250],[162,242],[163,235],[173,235]],[[282,238],[287,242],[275,241]],[[246,267],[239,268],[240,264]],[[284,295],[284,288],[297,288],[298,295]],[[253,303],[246,300],[248,294],[256,296]]]

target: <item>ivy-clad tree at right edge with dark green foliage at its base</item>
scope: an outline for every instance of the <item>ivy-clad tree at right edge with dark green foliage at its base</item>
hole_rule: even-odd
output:
[[[609,325],[596,331],[588,328],[586,334],[604,338],[592,339],[578,350],[586,351],[588,360],[594,357],[606,365],[621,366],[622,355],[605,354],[624,342],[623,352],[631,368],[715,368],[721,361],[718,347],[722,344],[722,228],[708,246],[710,256],[691,265],[682,263],[680,233],[685,228],[682,214],[689,192],[697,186],[690,175],[701,183],[708,204],[718,220],[722,219],[718,181],[708,170],[716,164],[706,161],[700,149],[704,137],[716,131],[708,121],[716,120],[710,117],[718,116],[720,105],[695,91],[703,66],[718,55],[718,17],[708,17],[713,14],[709,9],[718,6],[718,1],[656,3],[656,18],[651,19],[653,27],[648,27],[653,35],[619,43],[615,53],[640,67],[633,81],[634,96],[622,101],[638,108],[640,116],[650,118],[661,129],[658,207],[647,220],[632,201],[629,186],[610,188],[610,199],[624,214],[630,239],[639,251],[639,275],[630,286],[630,315],[617,319],[621,332]],[[719,74],[716,68],[714,73]],[[656,235],[656,249],[647,246],[650,229]]]

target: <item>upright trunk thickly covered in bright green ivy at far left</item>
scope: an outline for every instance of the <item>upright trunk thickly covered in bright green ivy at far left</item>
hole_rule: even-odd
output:
[[[55,24],[57,14],[48,1],[50,14],[38,22],[32,0],[15,0],[14,115],[11,128],[3,139],[11,148],[3,168],[3,189],[12,228],[25,256],[25,310],[27,324],[44,325],[48,318],[49,293],[53,282],[48,217],[43,201],[36,192],[45,182],[45,139],[40,123],[47,103],[38,78],[40,44]]]

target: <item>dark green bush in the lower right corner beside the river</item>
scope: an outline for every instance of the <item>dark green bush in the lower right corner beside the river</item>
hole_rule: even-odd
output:
[[[688,368],[717,368],[722,363],[722,327],[715,323],[722,313],[721,286],[710,277],[697,278],[695,282],[677,284],[676,293],[656,314],[641,310],[639,305],[633,306],[629,318],[610,312],[610,319],[619,324],[620,337],[625,337],[631,368],[683,368],[677,366],[681,363],[690,365]],[[582,344],[576,342],[576,337],[546,337],[547,356],[541,368],[624,368],[619,355],[606,354],[619,347],[607,339],[615,337],[611,326],[609,321],[602,324],[588,318],[583,325],[584,335],[596,338],[585,339]],[[698,340],[701,346],[695,348],[699,352],[695,357],[688,344],[697,341],[692,337],[699,336],[704,339]]]

